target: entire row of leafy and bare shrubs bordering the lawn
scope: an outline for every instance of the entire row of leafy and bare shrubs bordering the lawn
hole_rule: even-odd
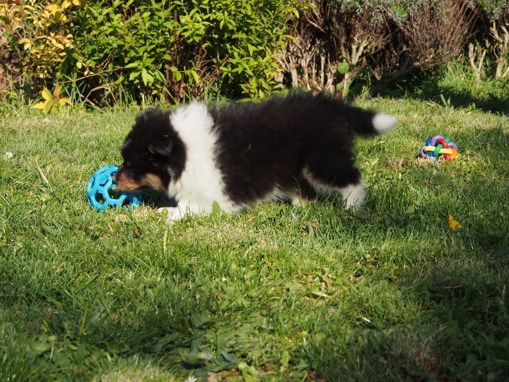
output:
[[[285,85],[344,96],[361,73],[376,93],[461,55],[473,25],[478,80],[509,77],[508,11],[509,0],[0,0],[0,98],[62,84],[96,106]]]

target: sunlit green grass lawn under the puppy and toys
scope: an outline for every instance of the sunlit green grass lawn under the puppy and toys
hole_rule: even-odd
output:
[[[357,142],[369,197],[167,225],[86,183],[134,110],[0,121],[0,380],[504,380],[508,119],[442,102]],[[416,158],[435,133],[453,162]],[[462,228],[450,229],[449,215]]]

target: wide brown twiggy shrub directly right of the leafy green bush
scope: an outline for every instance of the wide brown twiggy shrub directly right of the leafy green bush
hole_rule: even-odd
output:
[[[410,70],[427,70],[458,56],[476,16],[466,0],[313,4],[295,21],[295,39],[287,41],[280,63],[292,86],[340,95],[367,68],[379,81],[376,91]]]

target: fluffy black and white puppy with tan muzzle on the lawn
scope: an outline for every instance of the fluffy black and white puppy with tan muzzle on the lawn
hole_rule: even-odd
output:
[[[354,133],[390,131],[396,120],[320,93],[209,108],[192,102],[136,119],[115,175],[126,191],[164,190],[177,200],[168,219],[237,212],[262,201],[294,204],[340,194],[347,208],[365,197],[355,167]]]

